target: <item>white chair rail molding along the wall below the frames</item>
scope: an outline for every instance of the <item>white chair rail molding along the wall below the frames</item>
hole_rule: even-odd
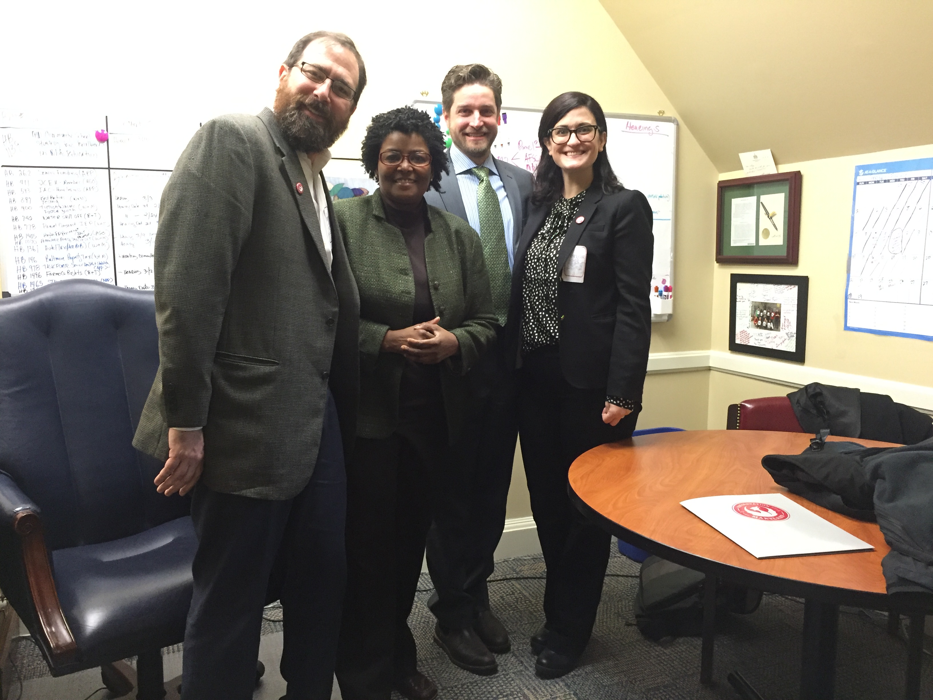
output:
[[[648,374],[696,370],[724,371],[775,384],[800,387],[811,382],[852,386],[873,394],[887,394],[926,413],[933,412],[933,386],[893,382],[861,374],[825,370],[792,362],[728,353],[721,350],[691,350],[683,353],[652,353],[648,356]]]

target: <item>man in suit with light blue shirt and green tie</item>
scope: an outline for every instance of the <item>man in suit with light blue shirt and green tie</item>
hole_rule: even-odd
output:
[[[440,180],[440,191],[428,190],[429,204],[466,219],[480,232],[493,301],[501,326],[506,324],[511,269],[522,234],[532,191],[532,175],[506,161],[493,158],[502,106],[502,80],[480,63],[455,65],[440,86],[444,119],[453,140],[449,155],[450,175]],[[500,329],[501,331],[501,329]],[[471,629],[445,624],[444,601],[435,595],[428,605],[439,616],[435,640],[451,661],[467,670],[494,672],[491,652],[509,650],[508,633],[489,607],[486,579],[493,573],[493,554],[506,522],[506,500],[512,459],[518,436],[516,387],[504,343],[470,371],[478,405],[464,430],[457,450],[472,476],[469,494],[468,542],[461,556],[441,552],[439,538],[428,537],[427,556],[432,575],[443,576],[444,567],[466,567],[466,594],[473,604]],[[437,574],[435,573],[437,572]],[[450,590],[450,586],[438,586]]]

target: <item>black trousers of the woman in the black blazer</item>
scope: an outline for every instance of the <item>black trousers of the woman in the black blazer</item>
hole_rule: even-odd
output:
[[[570,502],[567,472],[587,450],[632,436],[637,412],[603,423],[606,391],[567,384],[556,349],[524,358],[519,385],[522,460],[547,566],[545,626],[554,651],[579,653],[603,594],[610,536]]]

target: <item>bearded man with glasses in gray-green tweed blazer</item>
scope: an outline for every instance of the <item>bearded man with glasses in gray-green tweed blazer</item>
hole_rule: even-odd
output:
[[[359,296],[321,169],[366,69],[349,37],[299,39],[272,110],[208,121],[162,193],[160,368],[133,444],[192,492],[185,700],[246,700],[281,599],[287,698],[330,697],[346,576]]]

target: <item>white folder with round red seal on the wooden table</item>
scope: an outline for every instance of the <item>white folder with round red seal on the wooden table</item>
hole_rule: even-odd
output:
[[[874,549],[784,494],[708,496],[680,505],[758,559]]]

